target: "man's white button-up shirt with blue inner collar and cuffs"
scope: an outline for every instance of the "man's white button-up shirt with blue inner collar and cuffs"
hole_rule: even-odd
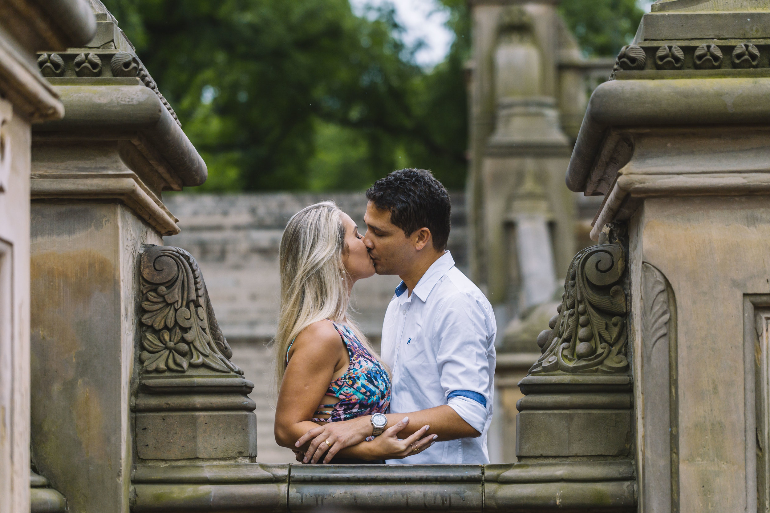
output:
[[[496,331],[492,306],[454,266],[450,252],[430,266],[411,295],[401,282],[382,335],[382,359],[393,377],[390,412],[449,405],[481,436],[439,441],[387,463],[489,463]]]

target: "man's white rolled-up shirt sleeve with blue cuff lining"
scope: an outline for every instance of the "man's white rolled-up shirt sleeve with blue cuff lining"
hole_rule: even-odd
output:
[[[434,325],[447,405],[479,433],[484,433],[492,413],[490,380],[494,369],[490,369],[489,351],[494,345],[494,325],[490,326],[489,317],[476,299],[458,293],[445,300]]]

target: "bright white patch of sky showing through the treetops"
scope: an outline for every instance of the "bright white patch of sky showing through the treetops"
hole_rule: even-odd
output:
[[[407,45],[420,39],[425,43],[414,55],[417,64],[430,68],[444,60],[454,41],[454,34],[446,27],[449,11],[436,0],[350,0],[353,12],[366,13],[367,5],[393,4],[396,19],[405,28],[401,36]]]

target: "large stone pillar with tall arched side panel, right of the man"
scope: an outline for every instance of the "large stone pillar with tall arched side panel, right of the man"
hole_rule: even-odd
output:
[[[768,511],[770,6],[655,2],[567,185],[628,223],[640,511]]]

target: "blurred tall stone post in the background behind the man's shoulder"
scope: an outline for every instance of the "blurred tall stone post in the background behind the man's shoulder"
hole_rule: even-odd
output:
[[[500,415],[490,457],[512,461],[515,385],[537,359],[535,339],[556,308],[577,238],[585,238],[577,222],[590,221],[599,205],[578,209],[563,178],[587,92],[612,64],[582,57],[555,2],[470,4],[469,270],[498,324]]]

